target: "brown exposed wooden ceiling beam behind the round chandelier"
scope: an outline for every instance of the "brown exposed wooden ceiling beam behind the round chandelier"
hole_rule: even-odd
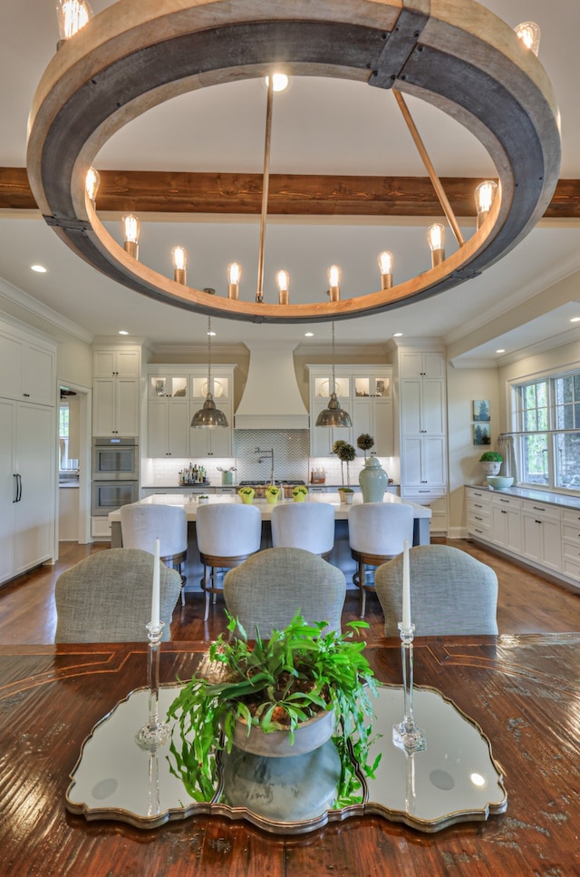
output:
[[[100,171],[98,210],[259,215],[262,174]],[[475,214],[481,178],[441,177],[454,213]],[[0,210],[35,210],[25,168],[0,168]],[[428,177],[271,174],[272,216],[440,216]],[[559,180],[545,217],[580,219],[580,180]]]

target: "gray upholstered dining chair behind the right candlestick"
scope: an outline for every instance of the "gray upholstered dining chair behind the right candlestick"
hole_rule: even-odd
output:
[[[417,545],[409,551],[409,573],[415,636],[498,633],[498,577],[485,563],[450,545]],[[402,557],[379,567],[374,581],[385,636],[399,636]]]

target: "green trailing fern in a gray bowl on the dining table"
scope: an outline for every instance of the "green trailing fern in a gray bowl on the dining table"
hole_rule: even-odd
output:
[[[218,788],[218,762],[233,745],[260,754],[301,754],[308,748],[296,742],[314,727],[312,748],[333,736],[340,756],[334,805],[360,801],[350,746],[362,774],[372,776],[379,761],[371,765],[368,757],[376,739],[367,721],[376,683],[362,655],[365,643],[353,638],[368,625],[352,621],[347,633],[323,633],[324,621],[307,624],[298,612],[287,627],[273,630],[268,640],[260,638],[256,629],[252,646],[239,621],[228,619],[230,635],[236,631],[237,636],[222,634],[209,648],[220,681],[193,677],[169,707],[168,720],[174,723],[171,772],[192,798],[210,801]],[[318,722],[326,724],[322,737],[315,730]],[[260,737],[257,749],[252,736]],[[268,750],[269,738],[275,742],[272,750]]]

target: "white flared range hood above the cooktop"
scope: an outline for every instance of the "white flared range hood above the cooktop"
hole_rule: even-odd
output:
[[[291,342],[247,345],[250,365],[235,429],[308,429],[308,412],[296,384]]]

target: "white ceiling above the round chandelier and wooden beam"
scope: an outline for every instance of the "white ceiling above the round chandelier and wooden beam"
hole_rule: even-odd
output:
[[[95,13],[112,5],[92,0]],[[533,19],[541,27],[540,59],[550,76],[562,114],[561,178],[580,179],[580,4],[569,0],[486,0],[507,24]],[[0,5],[0,168],[25,166],[26,120],[36,84],[57,40],[53,0],[3,0]],[[430,158],[440,177],[493,174],[488,156],[456,122],[409,100]],[[257,80],[216,86],[183,95],[131,122],[102,149],[99,169],[157,171],[262,170],[266,92]],[[391,93],[362,83],[297,78],[276,95],[271,172],[425,176]],[[119,221],[106,217],[119,238]],[[237,260],[244,269],[240,297],[256,291],[259,221],[236,216],[142,217],[140,258],[171,273],[169,252],[179,243],[189,253],[189,282],[226,291],[225,269]],[[274,271],[291,274],[291,297],[317,290],[324,300],[326,268],[343,269],[343,298],[379,286],[376,256],[389,248],[395,282],[430,266],[425,230],[429,219],[283,218],[266,229],[266,295],[274,300]],[[469,232],[469,229],[466,229]],[[448,236],[448,241],[450,234]],[[448,243],[448,250],[451,244]],[[48,272],[37,275],[30,266]],[[528,344],[556,344],[575,337],[580,324],[580,221],[542,220],[506,258],[480,277],[419,304],[379,317],[336,326],[337,344],[376,345],[395,332],[442,338],[457,365],[516,356]],[[42,306],[81,326],[89,336],[112,336],[126,329],[160,346],[203,343],[205,319],[140,297],[102,277],[73,255],[33,211],[0,212],[0,293],[22,290]],[[569,278],[567,284],[563,280]],[[580,276],[578,277],[580,280]],[[4,281],[4,282],[3,282]],[[1,301],[1,299],[0,299]],[[31,302],[31,307],[34,302]],[[216,343],[262,337],[292,338],[296,344],[328,341],[330,326],[317,324],[305,339],[304,325],[256,326],[215,320]],[[570,334],[571,333],[571,334]]]

